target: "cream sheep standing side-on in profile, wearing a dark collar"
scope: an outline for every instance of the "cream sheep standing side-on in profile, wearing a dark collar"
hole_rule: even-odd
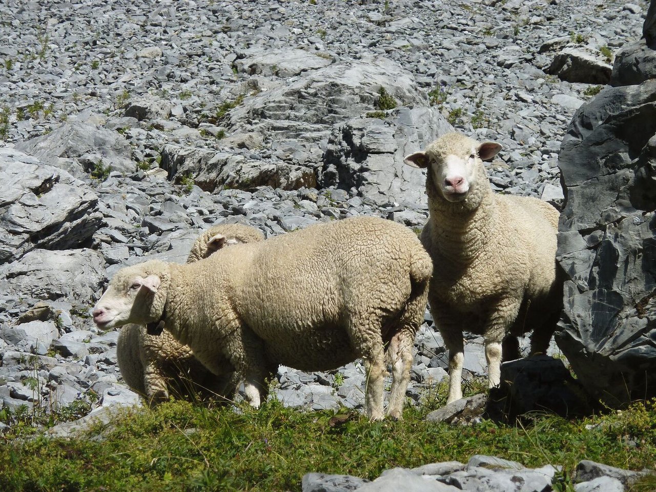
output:
[[[93,315],[102,329],[162,321],[213,373],[228,359],[255,407],[279,364],[325,371],[363,358],[367,415],[382,419],[388,358],[387,413],[400,418],[431,273],[430,256],[407,228],[347,218],[191,264],[123,268]]]

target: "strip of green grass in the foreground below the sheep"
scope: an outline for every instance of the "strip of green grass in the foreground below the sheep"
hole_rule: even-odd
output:
[[[523,427],[487,420],[434,424],[422,419],[428,409],[407,409],[400,422],[371,423],[348,410],[302,412],[276,401],[241,414],[171,401],[126,411],[74,440],[5,436],[0,490],[300,490],[308,472],[373,479],[394,466],[466,462],[475,454],[531,467],[560,464],[565,477],[581,459],[634,470],[653,468],[656,461],[653,403],[577,421],[538,415]],[[636,438],[637,445],[627,438]]]

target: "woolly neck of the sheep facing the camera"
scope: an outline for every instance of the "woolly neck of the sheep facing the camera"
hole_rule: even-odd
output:
[[[480,205],[468,210],[429,196],[433,241],[441,256],[457,264],[469,264],[478,256],[497,222],[493,199],[492,190],[483,190]]]

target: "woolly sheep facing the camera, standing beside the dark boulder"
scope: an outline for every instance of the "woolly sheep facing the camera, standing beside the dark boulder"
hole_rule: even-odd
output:
[[[519,357],[518,335],[533,329],[531,354],[546,351],[562,308],[558,211],[537,198],[493,193],[483,161],[499,150],[449,133],[405,157],[428,170],[430,216],[420,239],[435,265],[428,302],[449,350],[447,403],[462,398],[462,331],[483,335],[493,387],[502,353]]]

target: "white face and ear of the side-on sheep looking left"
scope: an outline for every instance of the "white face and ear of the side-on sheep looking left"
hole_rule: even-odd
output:
[[[126,271],[128,270],[128,271]],[[156,275],[146,277],[119,271],[93,308],[93,321],[100,329],[127,323],[150,323],[150,305],[160,284]]]

